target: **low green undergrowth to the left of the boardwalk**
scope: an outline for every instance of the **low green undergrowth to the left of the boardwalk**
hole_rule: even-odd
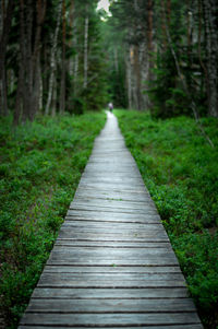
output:
[[[105,114],[0,124],[0,297],[16,328],[73,199]]]

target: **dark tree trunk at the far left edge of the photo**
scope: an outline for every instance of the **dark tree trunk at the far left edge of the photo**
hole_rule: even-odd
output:
[[[7,10],[1,4],[1,35],[0,35],[0,115],[8,115],[8,91],[7,91],[7,72],[5,72],[5,55],[9,39],[9,32],[14,11],[14,1],[9,1]]]

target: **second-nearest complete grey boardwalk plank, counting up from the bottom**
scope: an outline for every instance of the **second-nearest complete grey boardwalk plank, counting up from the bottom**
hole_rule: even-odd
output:
[[[190,298],[155,299],[32,299],[28,313],[193,313]]]

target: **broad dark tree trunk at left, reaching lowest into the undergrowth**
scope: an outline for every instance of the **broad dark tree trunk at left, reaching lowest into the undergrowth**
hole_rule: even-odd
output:
[[[21,117],[33,120],[40,95],[40,45],[46,1],[20,0],[20,77],[16,93],[15,121]],[[34,14],[36,27],[34,28]]]

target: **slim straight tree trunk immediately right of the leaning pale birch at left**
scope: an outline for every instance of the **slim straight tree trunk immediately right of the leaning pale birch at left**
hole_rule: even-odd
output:
[[[65,110],[65,0],[62,0],[62,60],[61,60],[61,90],[60,113]]]

